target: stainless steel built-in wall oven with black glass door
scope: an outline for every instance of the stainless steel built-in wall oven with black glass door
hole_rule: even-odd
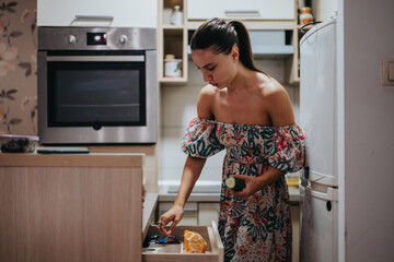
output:
[[[155,143],[154,28],[38,27],[43,144]]]

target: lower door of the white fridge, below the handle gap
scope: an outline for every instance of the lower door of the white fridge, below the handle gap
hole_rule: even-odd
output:
[[[315,187],[316,186],[316,187]],[[300,261],[337,262],[338,189],[301,184]]]

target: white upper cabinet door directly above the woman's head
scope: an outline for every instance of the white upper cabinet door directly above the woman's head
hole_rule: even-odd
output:
[[[294,20],[294,0],[188,0],[188,20]]]

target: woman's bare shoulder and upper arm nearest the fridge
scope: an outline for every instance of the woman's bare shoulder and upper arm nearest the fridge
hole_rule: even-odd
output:
[[[283,127],[294,122],[290,97],[278,81],[275,79],[267,81],[262,88],[262,96],[273,126]]]

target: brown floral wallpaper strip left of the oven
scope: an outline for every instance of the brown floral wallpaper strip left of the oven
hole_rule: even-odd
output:
[[[0,0],[0,134],[37,134],[36,5]]]

